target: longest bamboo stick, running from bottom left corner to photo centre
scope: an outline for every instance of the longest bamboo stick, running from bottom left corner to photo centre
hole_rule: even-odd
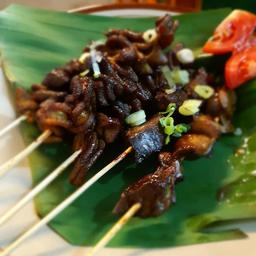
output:
[[[111,163],[101,169],[97,174],[95,174],[91,179],[85,182],[80,188],[68,196],[63,202],[57,205],[51,212],[49,212],[44,218],[42,218],[38,223],[29,228],[25,233],[19,236],[15,241],[8,245],[3,252],[0,253],[0,256],[6,256],[11,251],[13,251],[17,246],[19,246],[24,240],[38,231],[42,226],[50,222],[55,218],[60,212],[62,212],[66,207],[73,203],[81,194],[83,194],[91,185],[93,185],[98,179],[105,175],[109,170],[111,170],[115,165],[122,161],[130,152],[132,147],[127,148],[122,154],[120,154],[116,159]]]

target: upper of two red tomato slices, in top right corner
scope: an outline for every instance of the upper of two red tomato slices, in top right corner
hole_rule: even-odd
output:
[[[256,16],[250,12],[234,10],[215,29],[213,36],[205,43],[203,51],[224,54],[246,47],[246,42],[253,34]]]

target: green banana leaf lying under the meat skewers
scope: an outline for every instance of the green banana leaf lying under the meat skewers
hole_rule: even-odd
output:
[[[230,11],[220,9],[180,15],[175,40],[200,51],[216,25]],[[39,83],[46,72],[79,56],[85,44],[102,39],[109,28],[141,31],[153,24],[154,18],[98,17],[12,5],[0,12],[0,49],[10,91],[17,86],[29,89],[31,84]],[[208,58],[198,65],[218,69],[223,66],[223,59]],[[234,122],[242,129],[242,134],[223,136],[210,157],[185,161],[185,179],[176,187],[177,203],[157,218],[134,217],[109,246],[152,248],[246,237],[239,229],[221,227],[230,221],[256,217],[255,89],[256,82],[251,81],[237,91],[238,110]],[[23,124],[21,132],[26,144],[39,134],[30,124]],[[246,154],[234,154],[245,138],[247,143],[242,150]],[[123,149],[120,142],[112,145],[90,175]],[[70,153],[70,141],[43,145],[34,151],[29,157],[33,184]],[[71,244],[93,245],[117,220],[111,211],[122,189],[152,172],[154,166],[154,158],[135,165],[133,157],[128,157],[57,216],[50,227]],[[69,171],[35,198],[39,216],[47,214],[74,191],[68,182]]]

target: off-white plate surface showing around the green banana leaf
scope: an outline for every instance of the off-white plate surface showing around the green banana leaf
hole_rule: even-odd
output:
[[[134,10],[133,10],[134,11]],[[147,16],[155,16],[156,13],[148,13]],[[100,13],[113,16],[111,12]],[[118,16],[130,16],[134,12],[118,12]],[[158,15],[163,12],[158,13]],[[141,16],[141,15],[140,15]],[[0,129],[9,124],[15,118],[14,109],[7,91],[7,84],[0,68]],[[13,130],[7,136],[0,138],[0,163],[5,162],[24,148],[18,129]],[[0,216],[10,208],[19,198],[31,188],[31,176],[26,161],[13,168],[6,176],[0,179]],[[15,217],[3,227],[0,227],[0,247],[6,246],[17,235],[38,221],[33,203],[28,204]],[[129,225],[129,224],[128,224]],[[231,228],[231,226],[227,227]],[[167,249],[143,250],[143,249],[104,249],[99,256],[255,256],[256,252],[256,222],[248,221],[233,225],[240,228],[249,236],[248,239],[232,240],[225,242],[199,244]],[[86,237],[85,237],[86,239]],[[164,239],[164,238],[163,238]],[[88,248],[75,247],[68,244],[48,227],[42,228],[32,238],[28,239],[13,253],[13,256],[82,256],[86,255]]]

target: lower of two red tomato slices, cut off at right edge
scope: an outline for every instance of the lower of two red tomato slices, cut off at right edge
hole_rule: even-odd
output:
[[[254,77],[256,77],[256,46],[233,54],[227,61],[225,79],[230,89],[235,89]]]

